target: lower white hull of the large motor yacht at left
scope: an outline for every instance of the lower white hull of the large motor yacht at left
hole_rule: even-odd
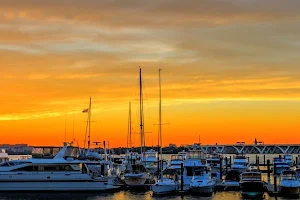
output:
[[[0,182],[0,191],[106,191],[117,189],[107,182]]]

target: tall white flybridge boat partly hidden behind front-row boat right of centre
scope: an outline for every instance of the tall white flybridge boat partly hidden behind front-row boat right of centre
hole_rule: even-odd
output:
[[[205,154],[200,150],[191,150],[188,152],[187,158],[183,162],[183,190],[187,191],[190,189],[194,171],[206,164],[205,158]]]

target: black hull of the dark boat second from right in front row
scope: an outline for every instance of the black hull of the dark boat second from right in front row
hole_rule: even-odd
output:
[[[240,189],[243,197],[259,198],[264,194],[264,183],[262,181],[242,181]]]

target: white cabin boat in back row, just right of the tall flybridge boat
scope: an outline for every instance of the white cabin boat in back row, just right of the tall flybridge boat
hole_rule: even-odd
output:
[[[220,165],[220,160],[222,160],[222,164]],[[220,170],[225,169],[226,163],[225,160],[223,160],[222,155],[219,154],[209,154],[206,159],[207,165],[211,169],[211,175],[212,177],[216,177],[217,179],[221,179],[220,177]],[[220,169],[221,168],[221,169]]]

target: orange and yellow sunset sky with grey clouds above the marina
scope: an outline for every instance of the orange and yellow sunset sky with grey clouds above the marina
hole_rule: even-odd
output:
[[[298,0],[1,0],[0,143],[300,142]],[[74,126],[73,126],[74,122]],[[65,125],[66,124],[66,125]],[[76,142],[76,143],[77,143]]]

